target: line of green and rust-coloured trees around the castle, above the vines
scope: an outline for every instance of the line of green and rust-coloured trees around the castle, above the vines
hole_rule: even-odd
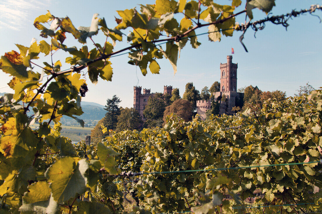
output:
[[[314,88],[308,83],[305,86],[300,86],[297,96],[308,94]],[[181,98],[179,89],[174,88],[170,94],[155,93],[150,96],[143,111],[144,118],[141,118],[139,112],[134,108],[119,107],[120,99],[114,95],[111,99],[107,99],[105,117],[99,120],[95,128],[92,130],[92,142],[100,142],[102,137],[108,133],[102,133],[102,125],[107,129],[112,129],[116,132],[124,130],[134,130],[142,128],[162,127],[166,121],[166,117],[172,113],[181,117],[186,122],[193,119],[196,114],[197,100],[211,100],[211,106],[206,111],[206,118],[211,115],[219,115],[219,101],[227,102],[225,95],[214,99],[214,93],[220,91],[220,83],[215,81],[210,88],[204,86],[201,90],[195,88],[193,83],[185,85],[185,93]],[[233,111],[244,111],[247,108],[261,109],[262,104],[269,99],[283,101],[286,99],[286,93],[280,90],[276,91],[261,91],[258,86],[252,85],[238,89],[238,92],[244,93],[243,99],[236,99]]]

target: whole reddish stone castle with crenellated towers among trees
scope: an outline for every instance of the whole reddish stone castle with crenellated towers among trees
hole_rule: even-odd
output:
[[[244,93],[237,92],[237,67],[238,63],[232,63],[232,56],[227,56],[227,63],[220,63],[220,91],[213,93],[214,99],[219,100],[219,114],[232,115],[234,106],[240,106],[244,98]],[[163,87],[163,94],[171,94],[172,86],[165,85]],[[150,96],[155,93],[150,93],[150,89],[143,89],[141,93],[141,86],[134,86],[134,101],[133,108],[136,109],[141,117],[143,117],[143,110],[147,105]],[[226,102],[221,101],[220,98],[225,95]],[[206,118],[206,111],[211,108],[211,100],[198,100],[197,101],[197,114],[204,120]]]

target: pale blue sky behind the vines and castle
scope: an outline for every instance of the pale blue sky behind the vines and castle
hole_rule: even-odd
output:
[[[231,4],[230,0],[214,1],[218,4]],[[66,0],[2,0],[0,2],[0,55],[11,50],[18,51],[15,44],[29,46],[33,38],[37,41],[44,40],[40,37],[40,31],[33,26],[33,21],[39,15],[49,10],[56,17],[70,17],[75,27],[90,26],[94,13],[99,17],[105,17],[108,27],[114,28],[117,23],[114,16],[118,17],[117,10],[125,10],[137,7],[138,4],[154,4],[153,0],[91,0],[91,1],[66,1]],[[276,1],[276,6],[271,11],[273,15],[290,13],[292,9],[300,10],[309,8],[311,4],[321,4],[321,0],[282,0]],[[242,5],[245,4],[243,0]],[[235,12],[242,11],[240,6]],[[254,19],[260,20],[266,14],[258,9],[253,9]],[[314,14],[322,17],[321,11]],[[245,15],[236,18],[236,22],[244,22]],[[257,85],[262,91],[280,90],[286,92],[287,96],[294,96],[300,85],[309,83],[318,89],[322,86],[321,67],[321,35],[322,24],[319,19],[310,14],[301,15],[289,20],[287,31],[281,25],[266,23],[264,30],[254,31],[248,29],[244,35],[244,44],[248,49],[245,52],[239,37],[240,31],[235,31],[232,37],[222,36],[220,42],[211,42],[207,35],[198,36],[201,45],[193,49],[187,44],[180,54],[177,62],[177,73],[174,75],[173,68],[165,58],[158,60],[161,67],[160,74],[152,74],[148,71],[146,76],[141,74],[138,67],[129,65],[127,55],[113,57],[110,59],[113,67],[112,81],[99,80],[97,85],[90,83],[87,77],[89,92],[82,98],[83,101],[95,102],[105,105],[106,100],[116,94],[120,99],[120,106],[133,107],[133,86],[150,88],[151,92],[163,92],[164,85],[172,85],[179,88],[182,96],[185,85],[193,82],[196,89],[202,90],[204,86],[210,87],[213,82],[220,80],[220,63],[226,63],[227,55],[233,56],[233,63],[238,63],[237,88],[248,85]],[[123,30],[128,34],[128,29]],[[201,28],[196,33],[207,32],[207,28]],[[92,39],[96,43],[103,44],[106,37],[99,33]],[[47,39],[48,42],[49,39]],[[114,50],[129,46],[126,38],[117,42]],[[87,41],[89,49],[94,46]],[[71,35],[64,42],[67,46],[77,44]],[[231,54],[234,48],[234,54]],[[57,51],[54,60],[65,61],[66,54]],[[48,58],[41,58],[48,61]],[[43,61],[39,63],[42,64]],[[69,68],[63,64],[62,69]],[[0,93],[10,92],[7,83],[12,77],[1,72]]]

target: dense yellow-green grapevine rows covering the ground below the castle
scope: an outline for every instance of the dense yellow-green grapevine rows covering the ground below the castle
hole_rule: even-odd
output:
[[[90,146],[73,147],[56,125],[43,152],[2,158],[2,210],[123,213],[131,200],[141,206],[132,213],[316,212],[321,113],[318,90],[232,117],[185,122],[171,115],[164,128],[109,130]]]

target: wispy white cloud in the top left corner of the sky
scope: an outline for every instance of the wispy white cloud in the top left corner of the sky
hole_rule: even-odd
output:
[[[0,29],[19,31],[24,24],[35,17],[34,11],[48,6],[50,0],[3,0],[0,4]]]

